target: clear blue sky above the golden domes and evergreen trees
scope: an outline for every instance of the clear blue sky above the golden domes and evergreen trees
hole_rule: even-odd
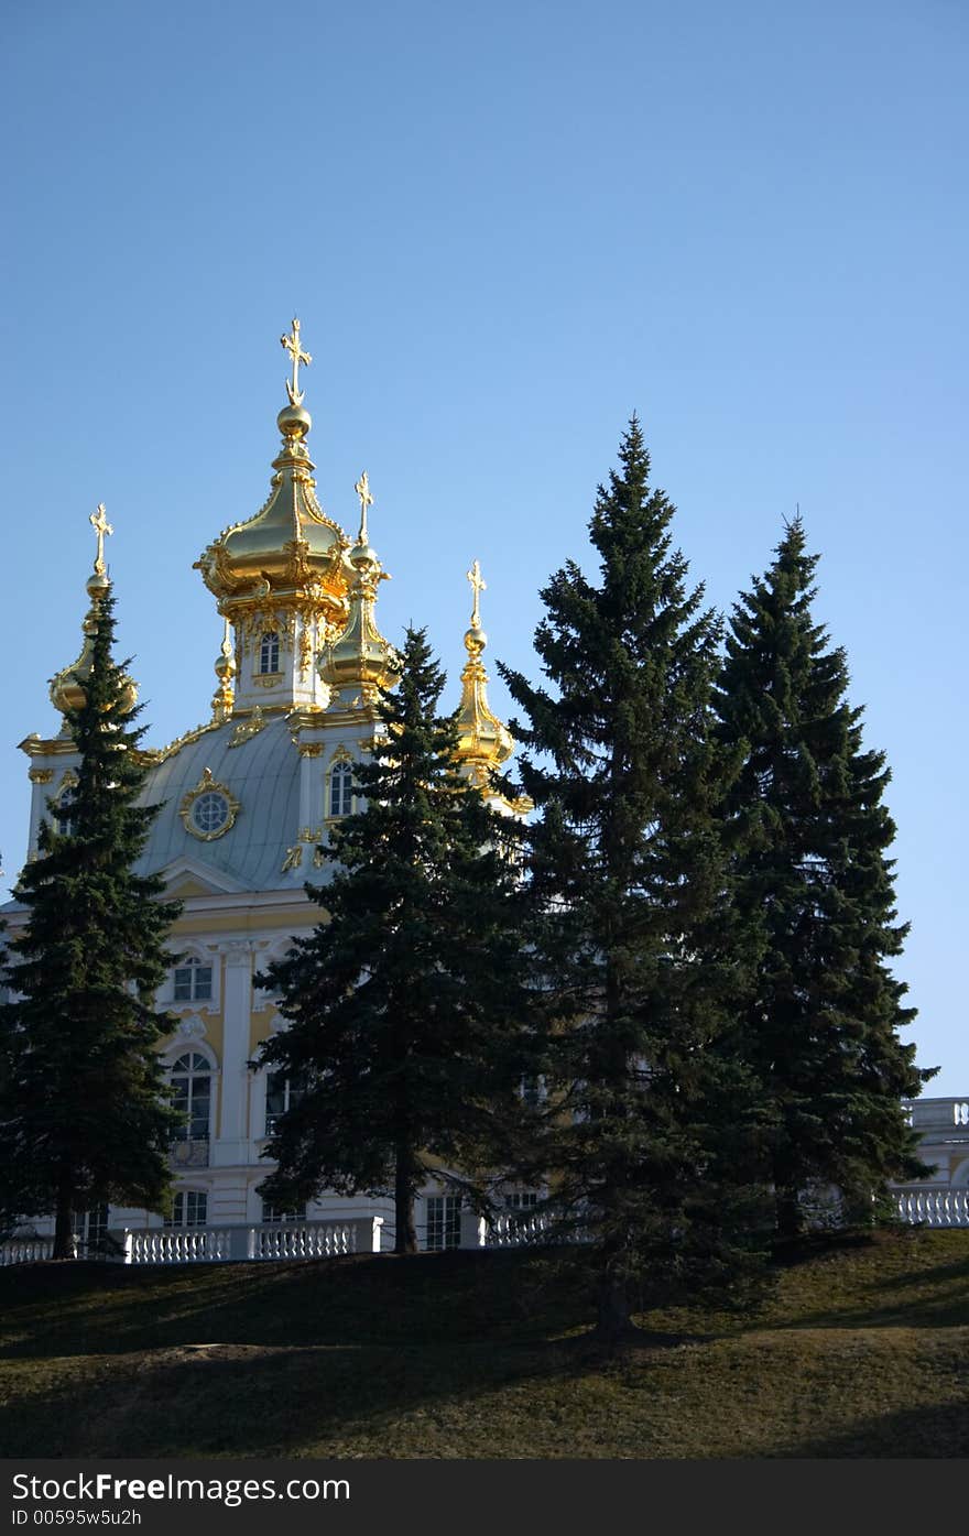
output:
[[[969,1094],[961,0],[52,0],[0,41],[8,882],[98,501],[149,740],[207,717],[192,561],[266,495],[298,313],[322,504],[369,470],[384,633],[453,684],[475,556],[534,671],[633,410],[716,607],[800,504],[894,768],[928,1092]]]

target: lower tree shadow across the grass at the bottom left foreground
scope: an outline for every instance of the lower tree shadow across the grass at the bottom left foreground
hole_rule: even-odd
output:
[[[48,1375],[0,1405],[0,1456],[439,1456],[441,1416],[473,1455],[476,1404],[585,1369],[561,1346],[186,1344]]]

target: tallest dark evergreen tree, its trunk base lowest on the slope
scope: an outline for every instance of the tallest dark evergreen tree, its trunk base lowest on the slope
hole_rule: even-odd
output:
[[[528,716],[522,782],[548,1040],[556,1198],[591,1243],[599,1335],[630,1329],[631,1283],[742,1263],[749,1095],[711,1049],[740,935],[714,825],[719,627],[671,550],[636,418],[590,524],[602,579],[574,562],[542,591],[536,650],[554,691],[502,668]]]

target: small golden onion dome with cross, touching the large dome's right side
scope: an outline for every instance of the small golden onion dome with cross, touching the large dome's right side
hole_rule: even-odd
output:
[[[373,703],[378,688],[392,688],[396,682],[398,653],[384,639],[373,617],[376,588],[390,578],[367,536],[367,507],[373,504],[373,496],[365,470],[355,490],[361,502],[361,519],[356,544],[346,556],[350,613],[339,637],[322,650],[319,676],[332,694],[352,690],[364,703]]]

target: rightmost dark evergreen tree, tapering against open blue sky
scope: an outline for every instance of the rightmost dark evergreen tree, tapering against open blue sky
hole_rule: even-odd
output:
[[[742,754],[725,825],[760,952],[734,1048],[762,1084],[777,1226],[794,1235],[812,1184],[871,1210],[888,1178],[924,1174],[900,1100],[932,1074],[898,1038],[915,1009],[888,966],[908,925],[886,857],[885,754],[863,748],[845,651],[812,619],[819,558],[800,519],[776,554],[734,608],[716,708]]]

